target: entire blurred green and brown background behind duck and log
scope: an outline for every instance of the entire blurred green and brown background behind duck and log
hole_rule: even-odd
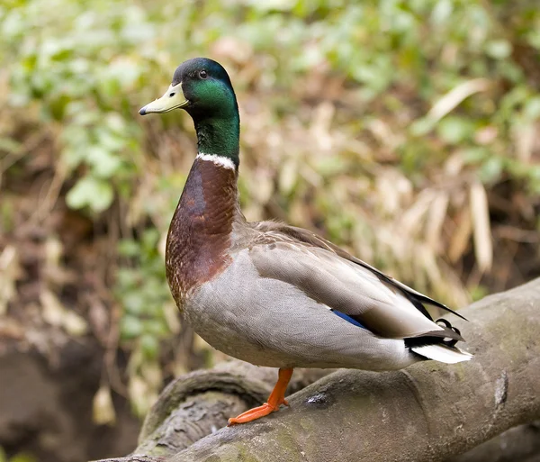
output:
[[[247,219],[459,308],[540,275],[539,53],[536,0],[4,0],[0,461],[125,454],[223,358],[165,280],[192,121],[138,115],[178,64],[229,71]]]

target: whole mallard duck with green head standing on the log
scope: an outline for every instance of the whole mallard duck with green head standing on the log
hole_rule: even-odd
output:
[[[293,367],[392,370],[472,355],[444,304],[301,228],[247,222],[238,203],[240,120],[229,75],[211,59],[185,61],[165,94],[139,113],[184,109],[198,155],[166,240],[166,278],[184,319],[229,356],[279,367],[268,402],[229,419],[254,421],[288,405]],[[462,317],[458,313],[457,316]]]

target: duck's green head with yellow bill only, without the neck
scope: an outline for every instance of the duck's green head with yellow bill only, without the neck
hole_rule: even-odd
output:
[[[140,115],[184,109],[193,119],[230,115],[238,111],[227,71],[208,58],[194,58],[175,70],[171,85],[157,100],[140,109]]]

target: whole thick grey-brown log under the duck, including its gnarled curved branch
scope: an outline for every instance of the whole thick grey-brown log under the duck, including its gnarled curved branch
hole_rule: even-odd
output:
[[[139,448],[109,462],[447,460],[539,419],[540,279],[460,313],[470,322],[449,318],[468,340],[472,361],[426,361],[386,373],[338,370],[293,394],[290,408],[245,425],[214,431],[264,401],[275,373],[270,379],[265,368],[233,363],[228,371],[180,378],[148,416]],[[257,370],[262,379],[250,372]],[[206,386],[190,385],[193,380]],[[230,397],[225,401],[214,394],[223,390]],[[184,412],[181,425],[177,412]],[[198,423],[209,416],[213,424]],[[524,438],[523,431],[512,431],[509,438]],[[470,454],[463,460],[479,460]]]

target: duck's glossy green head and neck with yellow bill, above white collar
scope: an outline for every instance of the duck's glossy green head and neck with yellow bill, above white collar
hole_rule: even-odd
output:
[[[197,131],[199,152],[226,157],[238,168],[240,119],[227,71],[208,58],[194,58],[175,70],[165,94],[140,109],[140,115],[189,113]]]

